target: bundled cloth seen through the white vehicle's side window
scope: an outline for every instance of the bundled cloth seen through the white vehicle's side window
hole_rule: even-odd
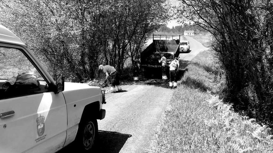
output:
[[[31,73],[25,73],[25,74],[15,74],[13,73],[13,77],[8,79],[6,83],[9,83],[11,85],[14,84],[22,84],[22,85],[36,85],[38,86],[37,82],[37,76],[35,74]]]

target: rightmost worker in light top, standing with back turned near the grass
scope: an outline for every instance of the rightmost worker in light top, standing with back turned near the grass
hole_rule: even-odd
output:
[[[175,57],[170,64],[170,85],[169,86],[171,87],[171,89],[177,87],[178,68],[179,68],[179,61],[178,61],[178,58]]]

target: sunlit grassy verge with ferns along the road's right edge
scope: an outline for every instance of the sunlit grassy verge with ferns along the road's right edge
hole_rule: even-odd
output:
[[[218,98],[224,85],[220,66],[208,50],[188,66],[173,91],[152,152],[271,152],[271,129],[240,116]]]

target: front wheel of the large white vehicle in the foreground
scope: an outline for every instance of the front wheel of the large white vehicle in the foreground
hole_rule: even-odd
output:
[[[95,142],[98,138],[98,122],[96,119],[86,118],[79,124],[76,136],[77,146],[84,152],[95,149]]]

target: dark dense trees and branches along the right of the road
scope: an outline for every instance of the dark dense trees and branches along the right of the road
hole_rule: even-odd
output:
[[[273,2],[180,0],[177,14],[208,30],[226,71],[224,100],[273,125]]]

